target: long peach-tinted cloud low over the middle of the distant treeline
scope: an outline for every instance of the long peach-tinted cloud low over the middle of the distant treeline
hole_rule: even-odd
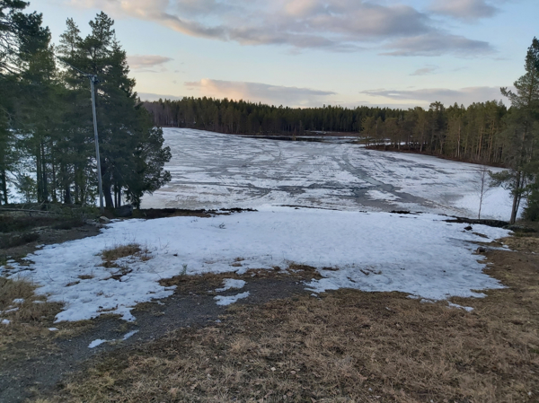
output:
[[[185,83],[188,89],[197,90],[201,96],[228,98],[262,102],[270,105],[291,107],[320,106],[328,96],[336,92],[312,90],[309,88],[285,87],[264,83],[246,83],[236,81],[210,80]]]

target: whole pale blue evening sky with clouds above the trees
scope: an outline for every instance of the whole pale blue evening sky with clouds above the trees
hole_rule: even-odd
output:
[[[33,0],[53,41],[115,20],[141,99],[289,107],[504,101],[539,36],[537,0]]]

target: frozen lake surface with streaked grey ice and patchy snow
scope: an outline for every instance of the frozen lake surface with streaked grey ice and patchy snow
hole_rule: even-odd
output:
[[[312,206],[477,216],[480,165],[343,143],[291,142],[164,128],[172,182],[144,208]],[[502,171],[489,168],[491,171]],[[489,192],[483,218],[508,220],[511,197]]]

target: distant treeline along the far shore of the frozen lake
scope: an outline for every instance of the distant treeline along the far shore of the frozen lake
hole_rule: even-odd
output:
[[[249,101],[184,98],[145,102],[158,127],[191,127],[232,134],[289,134],[305,130],[357,132],[367,145],[434,153],[463,161],[502,163],[508,149],[501,101],[446,108],[440,102],[398,110],[361,106],[356,109],[288,108]]]

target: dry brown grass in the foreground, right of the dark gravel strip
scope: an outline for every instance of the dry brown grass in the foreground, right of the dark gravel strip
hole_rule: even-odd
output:
[[[219,325],[107,355],[41,401],[539,401],[539,245],[523,242],[487,253],[509,288],[454,299],[471,313],[352,290],[236,304]]]

